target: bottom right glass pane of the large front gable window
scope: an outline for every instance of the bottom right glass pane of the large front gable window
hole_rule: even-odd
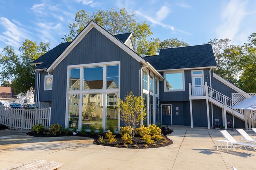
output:
[[[109,129],[110,126],[114,130],[118,130],[118,93],[107,93],[106,95],[106,128]]]

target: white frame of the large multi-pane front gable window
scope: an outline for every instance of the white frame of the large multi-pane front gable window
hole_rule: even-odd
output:
[[[119,88],[118,89],[107,89],[107,66],[110,65],[119,65]],[[83,90],[83,68],[87,67],[97,67],[103,66],[103,88],[102,89],[93,89],[93,90]],[[73,68],[80,68],[80,90],[69,90],[69,76],[70,76],[70,69]],[[82,129],[82,102],[83,102],[83,94],[100,94],[102,93],[102,101],[103,101],[103,108],[106,108],[106,94],[107,93],[118,93],[120,97],[120,80],[121,80],[121,62],[120,61],[113,61],[113,62],[99,62],[99,63],[92,63],[92,64],[79,64],[79,65],[71,65],[67,66],[67,98],[66,98],[66,117],[65,117],[65,128],[69,125],[69,95],[70,94],[80,94],[80,105],[79,105],[79,123],[78,129]],[[98,97],[98,96],[97,96]],[[103,109],[102,115],[102,127],[106,129],[106,109]],[[118,131],[120,131],[120,112],[118,113]]]

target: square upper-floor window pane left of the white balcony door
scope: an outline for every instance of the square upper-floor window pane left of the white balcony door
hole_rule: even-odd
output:
[[[184,71],[167,72],[164,74],[164,91],[185,91]]]

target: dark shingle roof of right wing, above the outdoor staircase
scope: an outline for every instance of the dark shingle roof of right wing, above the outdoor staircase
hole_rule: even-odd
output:
[[[143,58],[156,70],[217,65],[211,44],[161,49],[159,55]]]

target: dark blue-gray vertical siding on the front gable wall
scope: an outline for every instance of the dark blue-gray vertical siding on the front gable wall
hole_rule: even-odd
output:
[[[67,66],[111,61],[121,61],[120,98],[130,91],[139,96],[141,64],[93,28],[54,69],[51,123],[65,125]]]

